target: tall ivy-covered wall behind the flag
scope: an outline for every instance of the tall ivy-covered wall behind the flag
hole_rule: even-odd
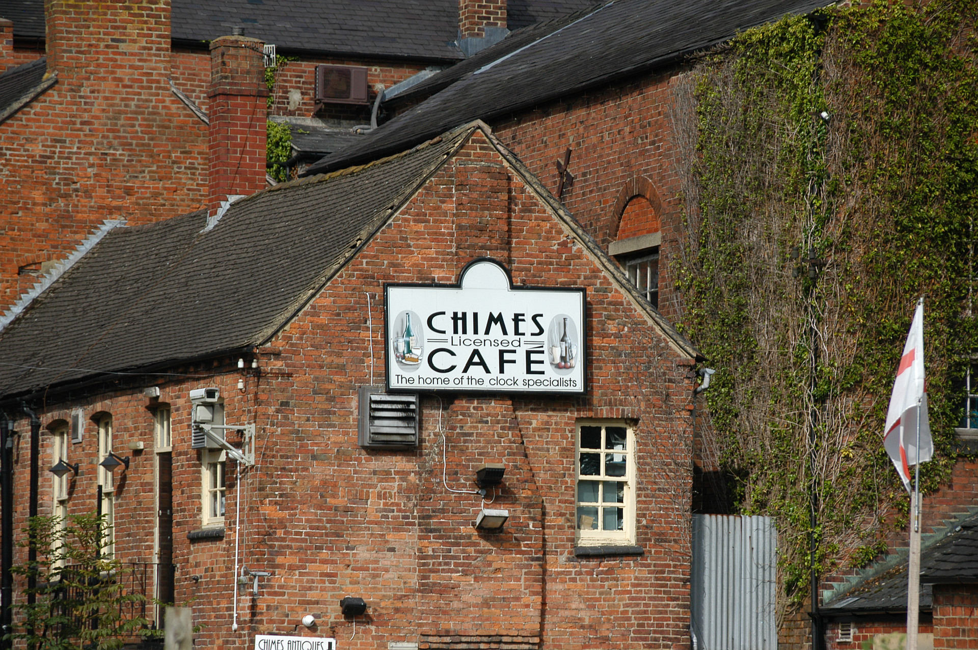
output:
[[[822,576],[906,524],[882,428],[921,295],[925,488],[956,461],[978,359],[976,18],[972,0],[788,18],[704,57],[678,96],[683,325],[717,369],[711,449],[737,507],[778,520],[785,608],[808,594],[813,496]]]

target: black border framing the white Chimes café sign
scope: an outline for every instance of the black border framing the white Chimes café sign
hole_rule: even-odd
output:
[[[503,273],[506,274],[507,282],[510,283],[511,291],[549,291],[549,292],[567,292],[567,293],[580,293],[581,294],[581,340],[584,342],[585,355],[584,355],[584,368],[582,369],[582,386],[580,391],[550,391],[550,390],[499,390],[499,388],[494,388],[492,390],[487,389],[471,389],[471,388],[445,388],[440,386],[425,386],[418,390],[412,390],[409,388],[391,388],[390,387],[390,345],[388,341],[390,339],[390,332],[387,331],[387,327],[390,323],[390,287],[411,287],[419,286],[423,288],[446,288],[446,289],[459,289],[462,288],[462,281],[466,277],[469,267],[475,264],[482,264],[484,262],[490,262],[495,264]],[[383,283],[383,381],[384,387],[389,393],[453,393],[453,394],[477,394],[477,395],[562,395],[562,396],[579,396],[588,394],[588,362],[591,359],[591,350],[588,347],[588,289],[584,286],[578,286],[573,288],[567,288],[562,286],[548,287],[548,286],[515,286],[512,283],[512,275],[510,270],[506,268],[506,265],[497,259],[492,257],[476,257],[475,259],[469,261],[466,266],[462,268],[459,273],[459,282],[440,284],[438,282],[384,282]]]

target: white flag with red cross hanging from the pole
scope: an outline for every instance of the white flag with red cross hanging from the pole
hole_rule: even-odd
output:
[[[890,409],[886,412],[886,426],[883,428],[883,446],[908,491],[911,490],[911,465],[926,462],[934,454],[927,418],[927,394],[923,389],[923,298],[920,298],[913,313],[904,354],[900,357]]]

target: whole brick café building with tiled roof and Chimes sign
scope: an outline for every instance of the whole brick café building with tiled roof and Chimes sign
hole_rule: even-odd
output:
[[[198,643],[689,647],[697,353],[479,122],[216,223],[116,229],[0,350],[16,525],[32,463],[41,514],[101,495],[107,549],[171,557],[149,595],[191,603]],[[416,404],[417,441],[377,448],[372,390]],[[193,418],[253,438],[222,453]],[[77,474],[44,471],[61,459]],[[476,529],[483,510],[509,519]]]

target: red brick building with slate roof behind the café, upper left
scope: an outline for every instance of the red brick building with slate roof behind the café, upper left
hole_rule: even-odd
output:
[[[295,121],[304,149],[332,152],[371,123],[383,89],[463,60],[508,25],[587,4],[516,3],[508,18],[505,2],[479,13],[456,0],[0,2],[0,309],[101,237],[107,220],[138,225],[207,205],[215,39],[274,46],[267,114]],[[323,70],[352,74],[357,88],[320,97]],[[263,130],[265,98],[258,108]]]

